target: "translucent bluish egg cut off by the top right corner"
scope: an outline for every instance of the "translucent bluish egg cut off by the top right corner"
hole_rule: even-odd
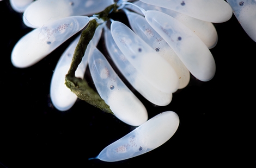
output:
[[[256,42],[256,1],[227,0],[234,15],[249,37]]]

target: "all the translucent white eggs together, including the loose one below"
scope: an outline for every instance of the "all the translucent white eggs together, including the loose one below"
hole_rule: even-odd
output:
[[[246,33],[256,41],[256,2],[249,0],[10,2],[16,11],[24,12],[24,23],[35,28],[14,47],[11,61],[15,67],[32,66],[83,30],[59,59],[52,76],[51,100],[60,111],[75,104],[78,94],[65,86],[65,75],[70,64],[72,68],[70,55],[86,45],[75,76],[83,79],[88,64],[97,94],[111,112],[126,124],[139,126],[102,150],[96,158],[104,161],[135,157],[162,145],[175,133],[179,117],[174,112],[164,112],[148,120],[147,109],[97,48],[101,36],[126,80],[157,106],[168,105],[172,94],[188,85],[191,74],[201,81],[214,77],[215,60],[209,49],[216,46],[218,36],[212,23],[226,22],[234,12]],[[130,27],[111,18],[118,12],[126,14]],[[92,37],[86,36],[92,33]],[[78,85],[76,88],[79,91]],[[138,150],[127,150],[127,144]],[[108,153],[111,150],[120,155],[112,156]]]

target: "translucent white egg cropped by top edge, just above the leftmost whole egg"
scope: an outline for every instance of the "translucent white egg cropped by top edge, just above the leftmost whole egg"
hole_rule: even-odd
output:
[[[41,28],[64,17],[93,15],[113,3],[113,0],[38,0],[25,10],[23,22],[28,27]]]

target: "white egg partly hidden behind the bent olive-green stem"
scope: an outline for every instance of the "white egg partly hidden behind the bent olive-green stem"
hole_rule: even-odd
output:
[[[95,30],[95,34],[90,41],[90,43],[93,43],[94,46],[96,46],[100,40],[102,28],[104,25],[105,23],[99,25],[99,27],[97,27],[97,29]],[[52,75],[50,96],[53,106],[56,107],[59,111],[67,111],[75,104],[77,99],[77,96],[73,92],[71,92],[69,88],[66,87],[65,76],[69,71],[72,57],[79,39],[80,36],[78,36],[74,40],[74,42],[72,42],[70,46],[64,51]],[[77,67],[75,73],[76,77],[80,77],[83,79],[84,73],[86,72],[87,63],[88,54],[85,54],[82,62]]]

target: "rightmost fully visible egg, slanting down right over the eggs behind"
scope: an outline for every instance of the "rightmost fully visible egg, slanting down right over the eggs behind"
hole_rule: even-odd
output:
[[[188,70],[201,81],[215,75],[215,61],[202,40],[184,24],[159,11],[147,11],[145,18],[179,56]]]

